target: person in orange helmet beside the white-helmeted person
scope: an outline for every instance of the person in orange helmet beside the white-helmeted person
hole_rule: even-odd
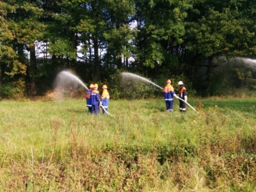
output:
[[[163,89],[164,100],[166,104],[166,111],[170,111],[170,112],[173,111],[173,96],[177,97],[171,83],[172,81],[170,79],[167,79],[166,86],[164,86],[164,89]]]

